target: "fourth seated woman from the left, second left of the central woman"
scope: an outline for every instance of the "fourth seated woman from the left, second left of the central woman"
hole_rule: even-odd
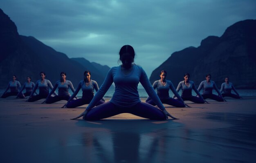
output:
[[[61,100],[68,101],[71,96],[70,93],[68,92],[68,88],[70,88],[72,90],[72,92],[74,93],[75,89],[73,87],[72,82],[69,80],[66,80],[66,77],[67,77],[66,73],[61,72],[60,77],[61,77],[61,79],[55,83],[54,88],[49,93],[49,95],[46,97],[46,99],[43,103],[52,104],[54,102],[61,101]],[[58,95],[51,97],[51,95],[54,93],[56,88],[58,88]],[[77,97],[76,97],[76,99],[77,99]]]

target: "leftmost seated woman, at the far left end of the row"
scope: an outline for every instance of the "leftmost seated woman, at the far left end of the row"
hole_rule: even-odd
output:
[[[10,88],[10,92],[7,93],[7,91]],[[17,96],[20,91],[20,82],[16,81],[16,75],[12,75],[12,81],[8,83],[8,86],[4,93],[2,94],[1,98],[6,98],[9,96]]]

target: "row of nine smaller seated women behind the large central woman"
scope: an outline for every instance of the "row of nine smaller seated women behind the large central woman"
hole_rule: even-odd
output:
[[[25,98],[26,96],[29,96],[29,99],[27,101],[37,101],[39,99],[46,99],[44,103],[46,104],[52,104],[56,101],[66,100],[67,104],[65,106],[67,108],[75,108],[78,106],[82,106],[85,104],[89,104],[92,98],[94,97],[94,89],[96,91],[99,90],[99,86],[96,81],[91,80],[91,73],[90,71],[86,70],[84,72],[84,79],[79,82],[78,87],[76,90],[74,90],[74,87],[72,85],[72,82],[69,80],[66,80],[66,73],[61,72],[60,77],[61,79],[57,81],[52,86],[52,83],[45,79],[45,72],[40,73],[41,79],[36,81],[36,84],[31,81],[31,77],[27,77],[27,82],[20,88],[20,82],[16,81],[16,76],[13,75],[13,81],[10,81],[7,89],[5,90],[4,94],[1,98],[5,98],[8,96],[15,95],[16,98]],[[165,70],[162,70],[160,72],[160,79],[155,81],[153,83],[153,88],[157,89],[157,95],[161,102],[163,104],[168,104],[175,107],[185,107],[184,101],[192,101],[194,103],[203,104],[205,103],[205,99],[213,99],[216,101],[224,101],[225,99],[223,97],[233,97],[236,99],[240,98],[240,95],[234,88],[233,84],[229,82],[229,78],[225,78],[225,82],[222,83],[220,91],[218,90],[216,84],[214,81],[211,81],[211,75],[206,75],[206,80],[202,81],[198,89],[195,87],[195,84],[193,81],[189,80],[190,75],[189,73],[184,74],[184,80],[180,81],[180,83],[177,86],[177,89],[174,88],[171,81],[166,80],[167,72]],[[10,88],[10,92],[7,93],[8,89]],[[39,88],[39,94],[36,93],[36,89]],[[49,88],[52,89],[52,91],[49,93]],[[55,92],[56,88],[58,88],[58,94]],[[70,95],[68,92],[68,89],[71,89],[73,92],[73,95]],[[203,94],[200,94],[200,90],[203,88]],[[25,93],[22,93],[22,91],[26,89]],[[78,99],[76,97],[79,90],[82,89],[83,96],[81,99]],[[173,92],[173,97],[169,97],[169,89]],[[212,93],[212,90],[215,89],[218,95],[214,95]],[[179,91],[182,90],[181,96],[178,94]],[[195,93],[198,96],[192,96],[192,90],[195,91]],[[231,90],[234,90],[236,93],[231,93]],[[222,93],[224,92],[224,93]],[[222,93],[222,94],[221,94]],[[54,94],[55,96],[52,96]],[[104,98],[102,98],[96,106],[103,104],[105,102]],[[153,102],[150,97],[146,99],[146,103],[151,104],[155,106],[156,104]]]

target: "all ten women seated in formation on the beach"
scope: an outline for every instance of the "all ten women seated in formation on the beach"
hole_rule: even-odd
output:
[[[25,95],[29,95],[29,99],[27,99],[27,101],[32,102],[45,98],[45,103],[53,103],[64,99],[67,100],[67,103],[64,106],[68,108],[81,106],[90,102],[85,111],[73,119],[83,117],[84,120],[99,120],[121,113],[131,113],[147,119],[164,120],[168,119],[168,117],[173,119],[177,118],[168,113],[162,103],[167,103],[177,107],[186,107],[187,105],[184,103],[184,100],[203,103],[205,102],[204,99],[211,98],[223,101],[223,97],[226,96],[226,94],[230,95],[230,88],[234,89],[234,86],[232,86],[232,84],[227,80],[226,85],[223,85],[224,87],[222,89],[225,91],[225,94],[222,95],[216,84],[210,80],[211,75],[207,75],[206,81],[202,81],[198,90],[196,90],[193,82],[189,81],[189,74],[185,74],[184,81],[182,81],[177,88],[177,91],[182,89],[182,96],[180,97],[171,81],[166,80],[166,71],[161,71],[161,79],[159,81],[155,81],[153,86],[151,86],[144,69],[141,66],[134,64],[134,58],[135,51],[133,47],[130,45],[122,46],[119,51],[119,60],[122,64],[120,66],[114,66],[108,71],[108,74],[100,88],[98,88],[96,81],[90,79],[91,74],[89,71],[85,71],[84,79],[80,81],[76,90],[74,90],[72,83],[66,80],[66,74],[64,72],[61,72],[61,79],[56,82],[54,87],[49,80],[45,79],[45,73],[41,72],[41,79],[36,81],[36,84],[31,83],[30,77],[27,78],[28,82],[23,86],[23,88],[26,88],[28,91],[25,94],[22,93],[20,83],[16,81],[16,76],[13,75],[13,81],[9,82],[2,98],[10,95],[16,95],[17,97],[24,98]],[[105,102],[103,96],[106,94],[113,82],[115,83],[115,92],[110,101]],[[137,91],[139,82],[149,95],[149,98],[147,99],[149,104],[144,103],[139,99],[139,93]],[[9,88],[11,92],[7,93]],[[34,95],[37,88],[39,88],[39,94]],[[52,89],[50,93],[49,88]],[[55,92],[56,88],[58,88],[58,95]],[[72,96],[68,93],[69,88],[73,91]],[[81,99],[77,99],[76,95],[81,88],[83,90],[83,97]],[[154,88],[157,88],[158,95]],[[204,91],[203,94],[200,95],[199,92],[202,88]],[[212,94],[213,88],[216,89],[219,97]],[[93,93],[94,89],[97,91],[95,96]],[[178,100],[169,97],[169,89],[173,91]],[[192,96],[192,89],[196,91],[199,97]],[[55,94],[56,96],[52,97],[52,94]],[[238,93],[237,96],[240,97]],[[158,108],[153,106],[155,104]]]

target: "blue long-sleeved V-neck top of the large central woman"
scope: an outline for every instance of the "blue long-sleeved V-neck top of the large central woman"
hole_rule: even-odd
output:
[[[141,102],[137,90],[140,82],[155,104],[157,104],[161,110],[164,110],[164,106],[155,93],[154,88],[151,86],[145,71],[141,66],[137,65],[132,65],[132,70],[127,75],[121,71],[121,66],[112,67],[108,71],[106,79],[99,88],[99,91],[93,97],[86,109],[91,110],[105,95],[113,82],[115,83],[115,93],[110,99],[110,102],[113,104],[121,108],[130,108]]]

